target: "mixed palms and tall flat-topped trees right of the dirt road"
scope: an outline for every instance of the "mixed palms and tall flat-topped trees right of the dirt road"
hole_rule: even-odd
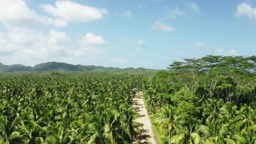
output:
[[[146,101],[162,143],[255,143],[256,57],[173,62],[149,80]]]

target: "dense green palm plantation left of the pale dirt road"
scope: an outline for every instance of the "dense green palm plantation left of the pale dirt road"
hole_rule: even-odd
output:
[[[129,74],[0,76],[0,143],[131,143],[139,123]]]

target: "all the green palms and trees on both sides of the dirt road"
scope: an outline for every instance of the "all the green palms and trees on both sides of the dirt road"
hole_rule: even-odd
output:
[[[131,143],[135,87],[160,143],[255,143],[255,63],[206,56],[155,74],[3,74],[0,143]]]

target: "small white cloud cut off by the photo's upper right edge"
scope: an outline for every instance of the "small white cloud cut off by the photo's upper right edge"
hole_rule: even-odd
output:
[[[236,14],[235,16],[241,17],[241,16],[247,16],[253,19],[256,19],[256,8],[253,8],[248,3],[240,3],[236,7]]]

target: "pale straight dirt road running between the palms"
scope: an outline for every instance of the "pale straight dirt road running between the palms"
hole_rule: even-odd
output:
[[[135,95],[135,98],[133,98],[132,101],[132,107],[139,114],[139,117],[135,121],[143,124],[143,129],[141,129],[141,135],[137,135],[137,137],[133,139],[132,143],[158,144],[152,127],[152,123],[148,116],[148,111],[146,110],[144,105],[142,92],[139,92]]]

